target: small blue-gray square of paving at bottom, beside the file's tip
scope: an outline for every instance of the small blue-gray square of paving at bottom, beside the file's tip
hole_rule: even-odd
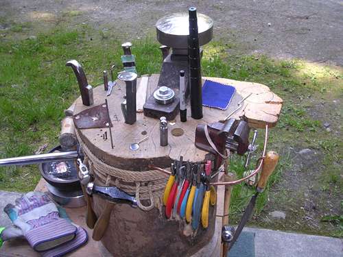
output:
[[[255,257],[255,233],[241,232],[229,253],[230,257]]]

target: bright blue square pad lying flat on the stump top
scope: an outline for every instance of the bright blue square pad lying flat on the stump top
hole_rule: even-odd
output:
[[[226,110],[236,88],[218,82],[207,80],[202,86],[202,105]]]

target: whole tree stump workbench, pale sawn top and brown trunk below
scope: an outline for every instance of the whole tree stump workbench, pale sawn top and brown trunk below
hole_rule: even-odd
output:
[[[146,98],[156,88],[158,77],[159,75],[151,75],[148,78]],[[104,132],[108,131],[108,127],[77,130],[78,136],[97,158],[111,167],[140,172],[150,170],[148,164],[169,167],[171,160],[178,160],[180,156],[183,156],[183,160],[190,160],[191,162],[204,161],[209,158],[208,152],[197,149],[194,145],[196,125],[198,123],[215,123],[225,119],[230,112],[237,108],[237,103],[250,93],[250,97],[244,100],[242,107],[232,115],[232,118],[241,117],[248,122],[250,127],[254,128],[264,128],[265,125],[274,127],[276,125],[283,101],[272,93],[267,86],[215,77],[204,77],[204,79],[235,86],[236,93],[230,102],[230,106],[227,110],[204,106],[203,119],[194,120],[191,119],[191,110],[188,104],[187,122],[180,122],[179,114],[175,121],[169,121],[169,145],[167,147],[160,146],[158,119],[145,117],[141,112],[137,113],[137,122],[133,125],[124,123],[120,104],[124,100],[126,90],[125,83],[121,81],[117,81],[117,86],[113,88],[108,97],[110,121],[113,123],[111,131],[114,148],[111,148],[109,133],[107,133],[107,140],[102,138]],[[137,89],[141,80],[141,78],[137,79]],[[93,88],[93,95],[93,106],[84,106],[80,97],[76,99],[71,106],[73,114],[102,105],[106,98],[104,86]],[[137,97],[141,96],[137,95]],[[175,129],[178,133],[175,133]],[[146,136],[149,136],[148,140],[141,143],[137,151],[129,149],[131,143],[138,142]],[[163,173],[160,175],[165,176],[165,180],[167,180],[167,175],[163,175]],[[104,184],[103,181],[99,181],[99,178],[95,178],[95,182]],[[102,244],[113,256],[219,256],[222,217],[224,215],[224,191],[224,186],[217,186],[217,206],[216,208],[211,207],[209,227],[204,229],[200,224],[200,228],[193,238],[185,235],[185,226],[187,226],[185,221],[167,220],[164,215],[164,208],[161,206],[150,211],[143,211],[139,208],[131,208],[126,204],[115,204],[110,215],[108,229],[102,238]],[[163,191],[161,191],[162,194]],[[104,210],[105,204],[104,199],[96,195],[93,196],[93,208],[98,217]],[[67,212],[75,223],[85,226],[82,215],[82,213],[85,215],[84,208],[67,209]],[[101,249],[102,245],[99,246],[99,243],[92,240],[91,230],[87,229],[87,231],[88,244],[71,256],[83,256],[84,253],[92,254],[92,256],[107,256]],[[4,256],[35,254],[27,244],[23,247],[14,245],[11,242],[6,242],[0,252]]]

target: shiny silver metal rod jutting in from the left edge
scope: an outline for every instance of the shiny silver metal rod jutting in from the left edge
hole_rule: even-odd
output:
[[[43,162],[58,162],[61,160],[75,160],[77,158],[78,151],[61,151],[51,154],[37,154],[35,156],[20,156],[0,159],[0,167],[10,165],[23,166],[29,164],[39,164]]]

